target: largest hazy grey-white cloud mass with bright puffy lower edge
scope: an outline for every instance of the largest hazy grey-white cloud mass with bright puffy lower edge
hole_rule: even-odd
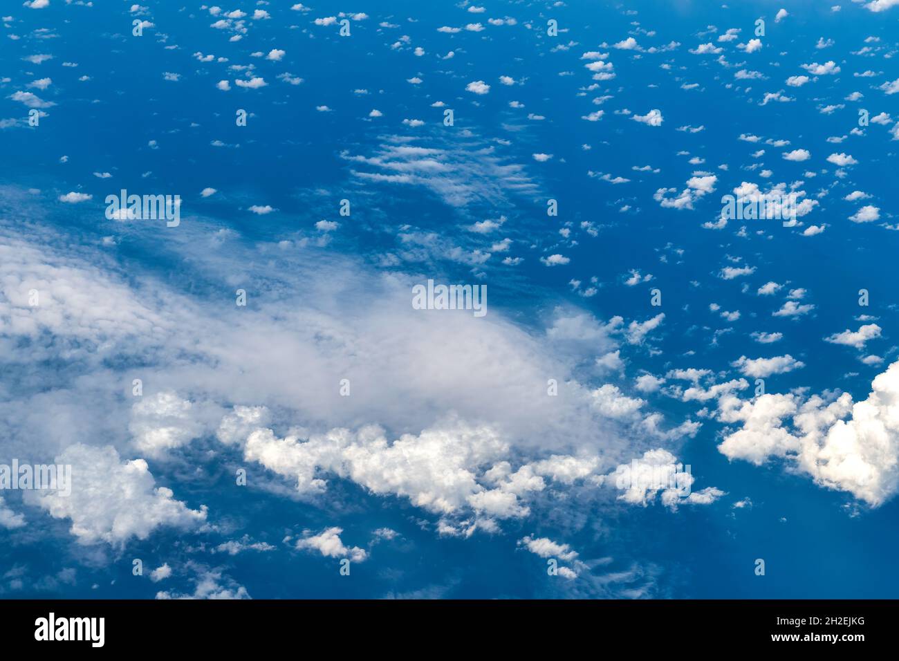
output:
[[[174,246],[185,251],[185,262],[199,260],[210,277],[224,281],[223,264],[203,243],[218,226],[202,222],[185,228],[196,234]],[[164,525],[202,523],[205,510],[156,487],[145,460],[120,456],[127,451],[133,458],[139,446],[141,454],[174,459],[193,439],[213,433],[232,404],[216,435],[229,451],[269,469],[268,479],[304,498],[322,494],[334,480],[352,480],[373,495],[405,498],[440,516],[446,530],[469,530],[461,523],[467,519],[485,526],[526,516],[553,476],[583,476],[577,467],[615,465],[645,444],[679,442],[698,428],[665,429],[662,416],[645,405],[624,415],[620,406],[636,397],[584,387],[568,364],[569,352],[602,347],[614,353],[619,342],[643,342],[663,315],[626,326],[620,318],[603,325],[583,312],[560,311],[547,333],[535,337],[501,313],[475,319],[414,310],[414,279],[372,276],[352,258],[333,255],[313,267],[277,249],[257,264],[250,257],[257,246],[217,239],[213,246],[230,251],[227,264],[245,269],[241,282],[264,272],[272,290],[267,300],[265,288],[255,288],[262,293],[253,307],[234,315],[233,308],[222,313],[159,281],[141,285],[80,256],[60,255],[64,244],[39,250],[27,228],[28,240],[21,227],[14,231],[0,244],[0,322],[7,335],[30,338],[34,360],[65,351],[72,367],[48,375],[52,388],[35,383],[14,401],[0,401],[0,425],[9,451],[27,446],[40,457],[58,447],[63,451],[50,457],[91,467],[76,473],[100,483],[92,498],[82,497],[87,490],[79,492],[76,482],[67,502],[42,500],[52,515],[71,518],[85,543],[118,545]],[[144,231],[148,242],[158,240]],[[286,280],[272,281],[273,273]],[[34,281],[40,281],[37,308],[27,303]],[[302,296],[295,293],[298,282]],[[339,295],[335,287],[352,294]],[[284,296],[293,300],[287,308]],[[360,306],[360,296],[380,303]],[[581,321],[565,321],[575,318]],[[264,338],[251,362],[240,349],[248,337]],[[435,355],[435,343],[446,351]],[[106,362],[128,355],[140,356],[145,388],[153,384],[139,401],[130,397],[132,376],[111,379]],[[417,357],[427,357],[432,370],[420,371]],[[299,371],[302,380],[291,376]],[[519,377],[514,383],[510,371]],[[334,374],[352,375],[353,394],[368,395],[340,397]],[[547,397],[550,376],[564,397]],[[129,396],[122,402],[125,384]],[[34,413],[48,406],[59,415]],[[458,417],[446,419],[448,410]],[[347,420],[361,422],[346,429]],[[132,438],[118,440],[117,449],[87,444],[118,438],[129,427]],[[44,441],[35,445],[35,437]],[[582,456],[589,460],[575,460]]]

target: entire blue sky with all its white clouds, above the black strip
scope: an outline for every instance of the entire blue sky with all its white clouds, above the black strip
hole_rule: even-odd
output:
[[[836,2],[4,8],[0,464],[72,493],[0,595],[895,596],[899,3]]]

